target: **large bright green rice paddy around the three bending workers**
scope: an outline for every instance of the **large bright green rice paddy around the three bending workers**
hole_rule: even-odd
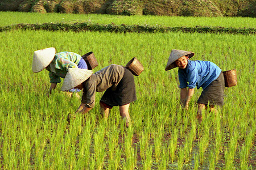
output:
[[[0,167],[255,169],[254,42],[251,35],[1,32]],[[99,63],[94,71],[126,65],[133,57],[141,61],[144,71],[134,77],[138,100],[130,106],[130,128],[124,128],[117,107],[108,121],[100,118],[100,93],[85,117],[77,114],[67,121],[80,99],[67,97],[61,84],[46,97],[47,71],[31,70],[34,51],[51,46],[81,55],[93,51]],[[217,115],[204,114],[201,124],[196,121],[201,89],[183,112],[177,69],[164,71],[172,49],[191,50],[196,53],[192,60],[212,61],[223,71],[237,70],[238,85],[225,88],[224,107]]]

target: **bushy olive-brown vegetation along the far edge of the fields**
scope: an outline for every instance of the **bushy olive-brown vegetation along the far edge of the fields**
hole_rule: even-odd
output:
[[[255,0],[2,0],[0,11],[69,14],[256,16]]]

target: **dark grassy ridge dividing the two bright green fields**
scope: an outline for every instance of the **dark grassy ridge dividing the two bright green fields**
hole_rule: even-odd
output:
[[[116,32],[116,33],[154,33],[154,32],[184,32],[184,33],[231,33],[241,35],[251,35],[256,33],[255,28],[225,28],[225,27],[164,27],[152,25],[115,25],[112,24],[92,24],[92,23],[44,23],[44,24],[14,24],[0,27],[0,32],[10,30],[46,30],[46,31],[100,31],[100,32]]]

